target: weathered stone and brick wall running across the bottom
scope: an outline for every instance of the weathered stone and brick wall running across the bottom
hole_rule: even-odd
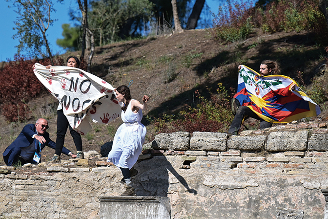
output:
[[[274,219],[281,208],[324,219],[328,130],[310,125],[230,137],[159,134],[145,145],[133,186],[137,196],[169,197],[172,219]],[[37,174],[1,167],[0,218],[99,219],[100,197],[119,196],[124,187],[118,168],[97,165],[62,164]]]

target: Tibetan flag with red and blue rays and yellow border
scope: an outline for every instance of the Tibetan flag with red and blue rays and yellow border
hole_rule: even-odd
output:
[[[295,90],[290,90],[292,83]],[[319,106],[301,91],[297,83],[284,75],[261,77],[253,69],[242,66],[234,96],[241,106],[247,106],[260,118],[271,123],[291,122],[320,114]]]

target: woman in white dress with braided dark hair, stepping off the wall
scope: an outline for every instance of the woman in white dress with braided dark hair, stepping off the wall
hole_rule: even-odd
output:
[[[115,89],[116,99],[122,107],[123,124],[115,133],[113,148],[108,153],[107,162],[114,163],[122,171],[126,191],[121,196],[135,196],[134,188],[131,185],[130,169],[137,162],[143,149],[146,135],[146,127],[141,124],[143,111],[147,109],[149,97],[143,96],[143,104],[133,100],[130,89],[127,86],[120,86]]]

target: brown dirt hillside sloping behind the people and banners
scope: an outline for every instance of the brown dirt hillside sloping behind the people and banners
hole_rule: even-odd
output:
[[[80,52],[66,53],[62,57]],[[263,34],[255,30],[252,37],[236,43],[215,41],[209,30],[188,30],[179,34],[170,34],[147,39],[108,44],[96,48],[93,58],[92,73],[101,77],[114,88],[128,85],[131,80],[132,98],[141,100],[143,94],[151,97],[145,115],[159,117],[163,113],[171,114],[194,106],[197,102],[194,91],[199,89],[206,94],[206,88],[216,90],[218,83],[233,94],[237,87],[238,66],[243,64],[258,70],[265,59],[277,60],[282,73],[297,82],[297,71],[304,72],[305,84],[310,87],[313,78],[325,79],[325,68],[320,68],[326,52],[308,32],[282,32]],[[87,56],[86,56],[87,57]],[[326,87],[326,80],[321,79]],[[205,95],[204,94],[204,95]],[[56,140],[56,108],[58,101],[46,91],[28,103],[32,110],[31,120],[25,123],[8,124],[0,116],[0,152],[17,137],[22,127],[34,123],[35,117],[48,119],[49,133]],[[318,118],[326,120],[326,104],[322,106]],[[114,121],[107,126],[93,124],[93,130],[82,137],[83,150],[100,152],[102,144],[112,141],[121,121]],[[155,131],[146,119],[147,138],[154,138]],[[72,137],[67,133],[65,147],[75,152]],[[42,151],[42,160],[48,161],[54,151]],[[64,159],[65,155],[62,155]],[[0,165],[3,165],[0,156]]]

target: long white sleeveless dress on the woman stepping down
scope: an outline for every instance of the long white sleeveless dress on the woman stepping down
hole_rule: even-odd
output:
[[[108,153],[107,162],[112,162],[117,167],[131,169],[142,152],[147,131],[140,122],[143,118],[141,109],[134,113],[129,104],[125,113],[122,110],[121,115],[124,123],[115,133],[113,147]]]

